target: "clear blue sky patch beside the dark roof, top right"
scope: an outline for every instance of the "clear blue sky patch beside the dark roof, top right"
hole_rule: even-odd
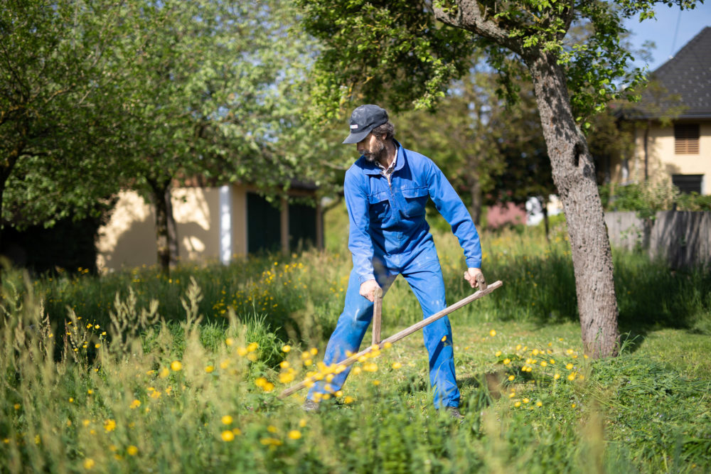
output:
[[[639,18],[631,18],[625,27],[631,32],[631,41],[635,49],[641,48],[645,41],[654,41],[656,48],[652,50],[652,60],[645,63],[636,60],[635,65],[647,64],[653,71],[663,65],[669,57],[688,43],[705,26],[711,26],[711,0],[705,4],[697,4],[693,10],[680,11],[677,6],[656,6],[656,19],[639,22]],[[710,58],[711,60],[711,58]]]

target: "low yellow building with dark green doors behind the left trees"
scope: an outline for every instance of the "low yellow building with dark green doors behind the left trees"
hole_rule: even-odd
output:
[[[314,198],[315,188],[294,183],[290,198]],[[119,193],[109,221],[99,228],[97,269],[156,263],[153,206],[132,190]],[[262,250],[292,252],[302,245],[324,244],[321,209],[281,200],[267,202],[255,188],[242,184],[173,188],[173,217],[181,261],[223,262]]]

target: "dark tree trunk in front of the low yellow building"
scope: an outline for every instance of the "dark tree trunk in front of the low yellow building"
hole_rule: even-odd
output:
[[[171,203],[171,180],[149,180],[156,206],[156,244],[158,264],[168,275],[178,262],[178,233]]]

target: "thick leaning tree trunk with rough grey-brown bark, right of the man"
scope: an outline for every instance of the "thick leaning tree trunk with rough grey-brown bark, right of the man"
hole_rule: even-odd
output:
[[[595,168],[576,126],[565,75],[555,55],[527,61],[552,167],[567,219],[584,350],[592,357],[619,350],[612,252]]]

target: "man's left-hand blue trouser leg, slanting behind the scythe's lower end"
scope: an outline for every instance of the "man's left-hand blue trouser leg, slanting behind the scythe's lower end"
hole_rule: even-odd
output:
[[[392,276],[376,276],[378,284],[383,288],[383,292],[392,284]],[[324,364],[333,365],[342,360],[347,359],[348,354],[355,354],[360,348],[360,343],[363,341],[366,330],[370,321],[373,320],[373,303],[367,298],[360,296],[360,281],[355,271],[351,271],[351,276],[348,279],[348,289],[346,290],[346,303],[343,307],[343,313],[338,318],[336,329],[333,330],[331,338],[326,345],[324,353]],[[316,393],[332,393],[337,392],[343,387],[343,382],[346,382],[346,377],[351,372],[351,366],[346,367],[346,370],[340,374],[334,374],[330,382],[321,380],[311,387],[307,398],[313,400]]]

